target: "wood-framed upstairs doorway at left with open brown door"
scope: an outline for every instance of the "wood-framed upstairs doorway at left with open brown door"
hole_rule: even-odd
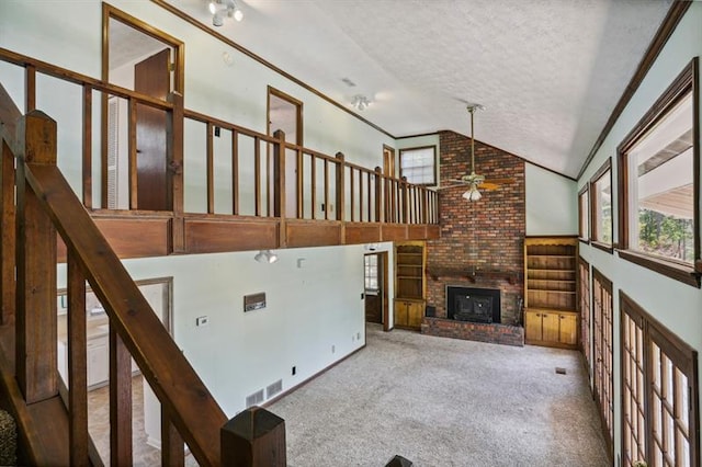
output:
[[[183,92],[183,43],[107,4],[102,78],[167,101]],[[101,207],[171,210],[170,114],[102,94]],[[131,136],[129,122],[134,122]],[[132,139],[134,138],[134,139]]]

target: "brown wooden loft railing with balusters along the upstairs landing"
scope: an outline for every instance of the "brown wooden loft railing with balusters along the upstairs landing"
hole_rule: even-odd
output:
[[[136,136],[135,136],[135,114],[137,105],[147,105],[149,107],[159,109],[169,114],[170,118],[170,127],[172,132],[170,133],[170,137],[173,138],[171,148],[173,150],[172,155],[170,155],[169,159],[169,170],[171,176],[171,195],[172,195],[172,207],[168,210],[173,212],[174,218],[177,218],[173,223],[173,251],[181,252],[185,249],[184,243],[184,234],[182,232],[183,223],[179,219],[183,217],[183,200],[184,200],[184,184],[183,184],[183,135],[182,130],[184,128],[184,121],[190,119],[199,123],[205,124],[207,129],[206,144],[207,148],[203,150],[203,153],[206,156],[206,174],[207,174],[207,187],[206,187],[206,204],[203,206],[203,210],[213,214],[213,215],[240,215],[241,213],[241,202],[246,200],[246,196],[241,196],[239,193],[239,174],[241,173],[240,168],[238,167],[239,162],[242,160],[242,156],[239,153],[242,149],[238,147],[241,137],[252,138],[256,145],[254,151],[254,160],[256,160],[256,193],[253,194],[253,203],[252,210],[254,216],[257,217],[271,217],[271,214],[275,210],[273,206],[281,205],[280,200],[271,200],[272,191],[270,190],[271,178],[270,169],[271,166],[268,163],[269,157],[271,152],[261,153],[261,146],[264,148],[267,146],[278,147],[276,150],[284,153],[285,151],[294,151],[297,157],[295,158],[295,164],[297,176],[295,179],[288,178],[291,180],[286,180],[288,184],[294,185],[294,189],[287,190],[281,187],[278,190],[276,194],[279,196],[283,196],[292,193],[295,193],[296,201],[295,209],[288,209],[286,213],[286,217],[304,219],[336,219],[336,220],[355,220],[355,197],[353,192],[358,192],[358,209],[359,209],[359,220],[363,221],[374,221],[374,223],[397,223],[397,224],[438,224],[438,216],[432,214],[431,212],[435,212],[438,196],[435,193],[428,190],[426,186],[412,185],[408,184],[406,181],[401,181],[395,179],[393,176],[388,176],[383,174],[382,171],[373,171],[367,168],[363,168],[361,166],[354,164],[352,162],[348,162],[346,160],[339,160],[335,156],[326,155],[320,151],[316,151],[314,149],[305,148],[301,145],[296,145],[287,141],[280,141],[275,136],[267,135],[250,128],[242,127],[240,125],[236,125],[230,122],[226,122],[222,118],[217,118],[214,116],[208,116],[200,112],[195,112],[193,110],[186,110],[183,107],[183,98],[180,94],[171,94],[168,101],[162,101],[159,99],[154,99],[147,94],[143,94],[136,91],[132,91],[129,89],[125,89],[115,84],[111,84],[109,82],[104,82],[102,80],[81,75],[78,72],[73,72],[50,64],[47,64],[42,60],[37,60],[5,48],[0,48],[0,60],[9,61],[11,64],[15,64],[18,66],[25,68],[25,86],[27,89],[26,95],[26,109],[32,110],[35,105],[35,93],[36,93],[36,75],[43,73],[47,76],[52,76],[58,79],[66,80],[68,82],[79,84],[83,88],[82,96],[83,96],[83,155],[82,155],[82,198],[83,205],[88,208],[93,208],[93,200],[92,200],[92,172],[94,171],[93,158],[91,155],[92,148],[92,133],[93,129],[91,127],[92,119],[90,118],[90,113],[93,111],[92,105],[92,93],[93,91],[102,92],[104,94],[115,95],[121,99],[124,99],[128,103],[129,107],[129,124],[127,128],[128,133],[128,190],[129,190],[129,209],[136,210],[139,209],[139,202],[137,198],[137,170],[136,170]],[[0,109],[1,112],[1,109]],[[212,140],[213,128],[220,128],[224,130],[231,132],[233,134],[233,145],[231,145],[231,178],[233,178],[233,186],[231,186],[231,212],[230,213],[222,213],[216,210],[216,206],[218,203],[215,201],[215,196],[218,195],[217,190],[214,187],[213,180],[213,157],[214,156],[214,144]],[[317,168],[317,161],[321,161],[320,167]],[[104,163],[104,162],[103,162]],[[305,173],[303,164],[309,163],[310,166],[310,176]],[[261,171],[261,164],[265,167],[265,173]],[[324,169],[322,166],[324,164]],[[331,167],[330,167],[331,166]],[[319,169],[319,170],[318,170]],[[343,170],[343,176],[346,178],[347,173],[353,173],[354,170],[358,170],[358,178],[354,178],[354,182],[358,183],[355,185],[352,183],[336,183],[331,185],[332,180],[337,182],[340,180],[338,176],[332,175],[330,179],[329,170],[336,169],[336,175],[339,175],[339,170]],[[104,170],[104,169],[103,169]],[[260,183],[261,178],[264,178],[265,185]],[[319,178],[319,180],[317,180]],[[309,180],[308,180],[309,179]],[[344,179],[346,180],[346,179]],[[371,192],[373,189],[371,187],[371,182],[375,185],[381,185],[381,190],[375,190],[376,194],[380,194],[376,197],[375,203],[380,203],[380,210],[375,209],[377,206],[373,206],[371,201]],[[365,185],[365,186],[364,186]],[[104,208],[104,203],[106,203],[106,183],[103,180],[103,193],[102,193],[102,208]],[[339,193],[339,190],[343,189],[346,193]],[[336,193],[335,193],[336,190]],[[365,192],[361,193],[361,191],[365,190]],[[410,196],[407,196],[408,192],[412,192],[412,201],[414,208],[410,208]],[[350,201],[354,204],[353,208],[348,209],[347,213],[343,213],[346,206],[341,206],[338,203],[339,198],[343,198],[346,201]],[[362,200],[365,197],[365,200]],[[263,204],[263,201],[265,203]],[[322,201],[324,200],[324,201]],[[337,205],[337,212],[331,213],[330,204],[335,203]],[[321,203],[320,203],[321,201]],[[291,202],[292,203],[292,202]],[[319,208],[324,204],[324,212],[319,214]],[[251,207],[251,206],[247,206]],[[416,215],[412,215],[414,212],[417,212]],[[341,216],[340,213],[341,212]],[[273,217],[279,217],[274,216]],[[348,217],[348,218],[347,218]],[[280,217],[279,217],[280,218]]]

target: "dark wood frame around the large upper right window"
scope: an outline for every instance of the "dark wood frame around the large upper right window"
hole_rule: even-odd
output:
[[[620,258],[655,271],[672,280],[700,287],[702,276],[701,240],[700,240],[700,90],[699,57],[694,57],[678,75],[673,82],[656,100],[652,107],[636,123],[616,148],[618,162],[618,217],[619,217],[619,247]],[[630,250],[629,228],[629,163],[626,152],[656,125],[668,109],[677,103],[688,92],[692,92],[692,158],[693,158],[693,227],[694,232],[694,260],[693,264],[682,263],[675,259],[666,259],[647,254],[637,250]]]

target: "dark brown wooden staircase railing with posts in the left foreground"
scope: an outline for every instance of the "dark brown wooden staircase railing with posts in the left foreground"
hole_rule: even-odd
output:
[[[3,95],[7,93],[0,87],[0,117],[3,118],[0,123],[9,122],[5,118],[19,113],[11,110]],[[5,112],[7,109],[10,111]],[[8,192],[14,192],[14,184],[8,185],[5,181],[10,179],[8,172],[14,172],[16,157],[18,236],[16,308],[14,304],[3,303],[1,315],[0,390],[12,401],[11,413],[19,421],[25,460],[34,465],[100,464],[89,455],[88,282],[110,320],[111,465],[131,465],[134,460],[132,358],[161,403],[162,465],[184,464],[183,442],[203,466],[285,465],[282,420],[276,422],[276,435],[263,440],[272,447],[262,448],[256,432],[249,433],[249,441],[245,442],[254,445],[253,452],[269,453],[261,464],[254,464],[257,457],[228,441],[241,435],[229,433],[231,421],[225,426],[225,413],[56,167],[56,123],[41,111],[31,111],[20,119],[15,141],[7,125],[3,126],[0,126],[2,198],[10,198]],[[4,207],[1,213],[3,237],[5,230],[14,230],[12,215],[15,214]],[[68,410],[58,396],[56,232],[67,248]],[[5,247],[3,238],[3,297],[14,285],[14,258]],[[13,371],[16,380],[9,374]],[[252,412],[238,417],[246,418]],[[248,425],[253,425],[265,413],[260,412]],[[275,462],[271,463],[271,458]]]

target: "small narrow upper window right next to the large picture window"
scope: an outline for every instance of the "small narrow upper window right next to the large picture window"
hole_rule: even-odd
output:
[[[590,180],[590,226],[592,244],[612,251],[612,161]]]

